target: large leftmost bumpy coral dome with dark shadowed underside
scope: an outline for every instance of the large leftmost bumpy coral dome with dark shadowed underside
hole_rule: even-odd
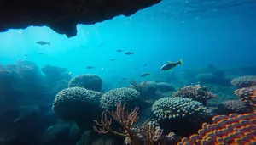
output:
[[[93,114],[91,110],[98,109],[101,96],[101,92],[70,87],[56,95],[52,109],[62,120],[76,120],[81,115]]]

